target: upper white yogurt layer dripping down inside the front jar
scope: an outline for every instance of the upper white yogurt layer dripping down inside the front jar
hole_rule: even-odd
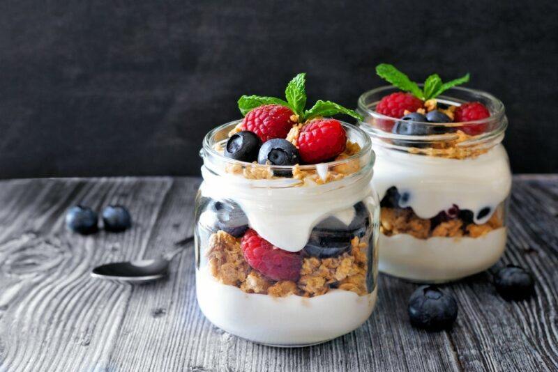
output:
[[[246,213],[250,227],[271,244],[286,251],[300,251],[312,228],[326,217],[336,215],[347,220],[347,208],[370,198],[372,171],[342,180],[317,185],[308,180],[247,180],[229,173],[216,175],[202,166],[203,196],[230,199]],[[281,186],[281,187],[280,187]],[[350,221],[349,221],[350,222]]]

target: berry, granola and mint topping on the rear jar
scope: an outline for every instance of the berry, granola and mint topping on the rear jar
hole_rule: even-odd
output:
[[[469,74],[442,82],[437,74],[417,84],[393,65],[377,65],[377,75],[400,89],[386,93],[367,119],[379,137],[400,150],[421,155],[465,159],[487,152],[476,140],[497,130],[503,110],[491,112],[479,100],[462,101],[442,93],[469,82]],[[393,91],[393,89],[392,89]],[[361,102],[359,102],[360,104]]]

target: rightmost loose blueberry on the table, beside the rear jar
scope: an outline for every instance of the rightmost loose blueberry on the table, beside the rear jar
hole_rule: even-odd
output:
[[[500,269],[494,277],[494,285],[504,300],[525,300],[534,292],[535,282],[530,272],[515,265]]]

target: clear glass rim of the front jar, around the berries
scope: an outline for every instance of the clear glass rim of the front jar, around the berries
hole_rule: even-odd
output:
[[[251,162],[243,162],[241,160],[235,160],[232,159],[230,157],[226,157],[225,155],[223,155],[223,153],[218,152],[214,146],[216,146],[217,144],[222,144],[225,141],[224,139],[221,139],[220,141],[216,141],[215,137],[217,134],[219,133],[223,133],[223,132],[228,132],[226,129],[228,127],[230,127],[230,129],[234,128],[237,124],[241,123],[242,119],[237,119],[234,121],[229,121],[229,123],[225,123],[222,125],[219,125],[218,127],[214,127],[212,130],[210,130],[209,132],[207,132],[207,134],[205,135],[203,141],[202,141],[202,151],[204,152],[202,155],[211,155],[212,157],[216,157],[219,160],[222,160],[223,162],[227,162],[229,164],[234,164],[234,165],[239,165],[239,166],[252,166],[253,163]],[[317,169],[316,167],[318,165],[322,165],[322,166],[327,166],[327,168],[329,169],[330,167],[333,166],[338,166],[338,165],[342,165],[342,164],[347,164],[351,161],[354,161],[356,159],[359,159],[361,157],[364,157],[365,155],[370,154],[370,166],[373,166],[374,162],[375,162],[375,155],[374,155],[374,151],[372,150],[372,140],[370,139],[370,136],[361,129],[361,127],[357,127],[356,125],[352,125],[349,123],[345,123],[344,121],[340,121],[342,127],[347,131],[347,129],[354,131],[356,134],[358,134],[359,137],[359,146],[361,146],[361,149],[359,150],[358,153],[354,154],[354,155],[350,155],[349,157],[346,157],[345,159],[342,160],[333,160],[331,162],[323,162],[323,163],[318,163],[318,164],[299,164],[299,169],[301,171],[310,171],[310,170],[315,170]],[[348,136],[347,136],[348,137]],[[261,166],[264,166],[263,164],[259,164]],[[286,170],[292,170],[294,168],[295,165],[267,165],[266,167],[269,167],[269,169],[271,169],[271,171],[286,171]]]

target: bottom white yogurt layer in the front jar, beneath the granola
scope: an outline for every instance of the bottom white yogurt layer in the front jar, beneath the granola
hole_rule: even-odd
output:
[[[199,308],[211,323],[258,343],[304,346],[347,334],[363,324],[375,307],[377,290],[359,296],[330,290],[312,298],[244,293],[220,284],[205,269],[196,270]]]

